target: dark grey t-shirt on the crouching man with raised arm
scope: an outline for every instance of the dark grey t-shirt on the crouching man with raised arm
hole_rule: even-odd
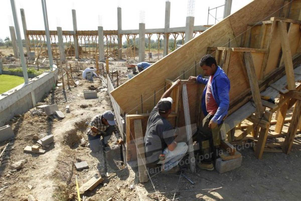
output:
[[[148,118],[144,137],[147,163],[152,163],[159,159],[162,151],[174,141],[174,132],[175,130],[169,121],[159,115],[156,105]]]

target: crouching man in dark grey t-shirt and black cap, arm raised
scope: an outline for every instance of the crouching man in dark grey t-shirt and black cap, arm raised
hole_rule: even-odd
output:
[[[177,165],[188,149],[185,142],[177,143],[176,129],[167,120],[172,107],[172,98],[169,95],[180,81],[177,80],[162,95],[151,111],[144,137],[147,166],[155,168],[160,165],[162,172],[166,174],[175,174],[180,170]]]

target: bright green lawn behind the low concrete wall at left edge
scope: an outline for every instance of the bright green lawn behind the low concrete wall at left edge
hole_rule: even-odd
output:
[[[0,94],[24,83],[24,78],[15,75],[0,75]]]

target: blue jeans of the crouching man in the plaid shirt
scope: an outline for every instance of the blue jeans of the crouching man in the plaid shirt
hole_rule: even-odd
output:
[[[111,135],[114,131],[114,126],[109,126],[104,131],[106,134],[103,136],[104,144],[108,143],[108,140],[111,138]],[[99,152],[102,149],[102,143],[100,143],[101,135],[97,134],[96,136],[88,135],[88,140],[90,143],[90,149],[92,152]]]

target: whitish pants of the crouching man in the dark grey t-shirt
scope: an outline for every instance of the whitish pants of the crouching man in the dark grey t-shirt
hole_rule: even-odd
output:
[[[178,165],[181,159],[185,156],[188,150],[188,146],[185,142],[180,142],[177,144],[173,151],[170,151],[167,147],[163,150],[165,154],[165,160],[159,161],[158,164],[164,164],[164,171],[168,171],[171,168]]]

